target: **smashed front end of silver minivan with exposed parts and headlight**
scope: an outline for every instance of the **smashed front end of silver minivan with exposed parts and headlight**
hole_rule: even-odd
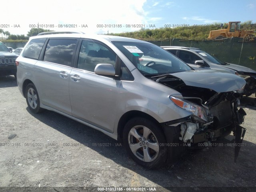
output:
[[[205,72],[201,73],[204,79],[202,83],[194,80],[193,77],[187,78],[188,73],[184,72],[186,76],[177,73],[152,78],[180,92],[182,98],[171,95],[170,100],[179,108],[191,112],[190,116],[162,124],[167,135],[174,135],[171,140],[167,139],[170,147],[176,147],[176,149],[172,148],[170,158],[182,153],[184,146],[193,147],[198,144],[209,146],[210,142],[233,132],[236,162],[246,132],[246,129],[240,126],[244,122],[246,112],[242,108],[238,109],[239,98],[242,96],[245,84],[242,81],[216,82],[217,76],[213,76],[212,79],[211,76],[207,78],[209,74]],[[223,78],[222,81],[225,81],[225,77]],[[215,81],[214,84],[210,83],[212,80]]]

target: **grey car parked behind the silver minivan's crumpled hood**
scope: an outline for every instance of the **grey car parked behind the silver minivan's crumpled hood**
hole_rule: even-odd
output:
[[[244,95],[250,96],[256,93],[256,71],[250,68],[223,62],[198,48],[178,46],[162,46],[162,48],[176,55],[195,70],[213,69],[235,73],[246,80]]]

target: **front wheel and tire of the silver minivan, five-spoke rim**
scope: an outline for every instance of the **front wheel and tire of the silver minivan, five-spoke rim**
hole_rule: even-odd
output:
[[[166,138],[160,125],[151,120],[129,120],[124,126],[123,142],[132,159],[141,166],[154,169],[167,160]]]

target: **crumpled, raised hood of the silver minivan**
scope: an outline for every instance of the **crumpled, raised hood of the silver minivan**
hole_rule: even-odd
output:
[[[240,90],[246,81],[234,74],[215,70],[193,70],[171,74],[186,85],[212,89],[218,93]]]

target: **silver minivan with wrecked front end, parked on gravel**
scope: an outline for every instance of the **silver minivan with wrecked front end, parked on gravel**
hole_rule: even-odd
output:
[[[121,140],[146,168],[177,161],[188,148],[232,131],[242,143],[244,79],[193,70],[154,44],[43,33],[30,38],[16,65],[18,88],[32,112],[52,110]]]

